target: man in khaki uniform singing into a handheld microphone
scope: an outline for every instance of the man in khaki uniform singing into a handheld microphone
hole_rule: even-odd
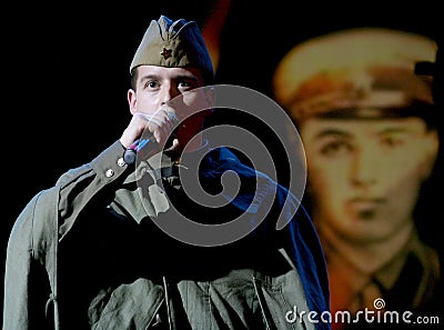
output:
[[[120,139],[38,193],[13,226],[3,330],[329,329],[311,219],[291,192],[200,134],[215,89],[195,22],[151,21],[130,72],[132,119]],[[226,171],[238,191],[224,189]],[[225,203],[194,201],[190,173]],[[236,240],[199,233],[238,219],[254,228]],[[314,316],[286,317],[295,311]]]

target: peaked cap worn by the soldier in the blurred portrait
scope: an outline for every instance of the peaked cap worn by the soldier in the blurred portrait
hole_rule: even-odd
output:
[[[424,116],[433,109],[430,74],[415,64],[433,62],[436,42],[385,28],[355,28],[303,41],[280,61],[275,100],[297,121],[329,118]]]

